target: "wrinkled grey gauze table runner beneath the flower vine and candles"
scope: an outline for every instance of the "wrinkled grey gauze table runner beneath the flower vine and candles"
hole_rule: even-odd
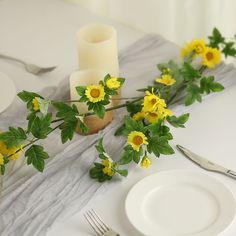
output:
[[[121,76],[126,83],[123,96],[136,96],[137,88],[151,84],[158,75],[156,64],[169,59],[179,59],[179,47],[158,35],[147,35],[120,53]],[[236,83],[236,69],[233,65],[219,65],[211,71],[225,87]],[[20,78],[19,78],[20,79]],[[57,88],[42,91],[45,97],[68,98],[69,83],[66,78]],[[173,107],[175,114],[185,112],[182,105]],[[104,137],[108,153],[118,158],[125,139],[114,137],[114,131],[122,123],[125,109],[116,112],[115,120],[98,134],[75,135],[62,145],[59,131],[50,134],[41,143],[50,154],[43,173],[38,173],[25,160],[18,160],[13,169],[3,179],[0,204],[1,236],[42,236],[58,220],[63,220],[80,211],[98,194],[102,194],[120,180],[111,183],[97,183],[90,179],[88,172],[97,158],[94,145]],[[26,109],[16,100],[0,115],[0,130],[8,126],[25,127]]]

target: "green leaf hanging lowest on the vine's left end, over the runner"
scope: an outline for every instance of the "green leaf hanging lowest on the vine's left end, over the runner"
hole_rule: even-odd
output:
[[[45,166],[45,159],[49,158],[42,146],[32,145],[26,152],[27,164],[32,164],[38,171],[43,172]]]

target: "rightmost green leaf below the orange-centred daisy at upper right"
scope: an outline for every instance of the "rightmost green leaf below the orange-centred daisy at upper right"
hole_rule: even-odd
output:
[[[203,77],[200,82],[201,93],[209,94],[212,92],[220,92],[224,89],[224,86],[214,81],[214,76]]]

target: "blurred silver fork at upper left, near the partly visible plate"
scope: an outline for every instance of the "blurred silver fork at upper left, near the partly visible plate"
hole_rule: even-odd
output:
[[[56,66],[40,67],[40,66],[37,66],[35,64],[30,64],[30,63],[27,63],[27,62],[22,61],[20,59],[17,59],[17,58],[11,57],[11,56],[6,56],[6,55],[3,55],[3,54],[0,54],[0,58],[11,60],[11,61],[16,61],[18,63],[21,63],[21,64],[24,65],[26,71],[28,71],[29,73],[32,73],[34,75],[39,75],[39,74],[47,73],[47,72],[53,71],[56,68]]]

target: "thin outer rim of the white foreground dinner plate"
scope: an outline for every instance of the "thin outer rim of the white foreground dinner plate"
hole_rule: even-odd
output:
[[[198,175],[202,175],[204,178],[209,178],[215,182],[218,182],[220,185],[222,185],[228,192],[228,194],[230,194],[230,196],[232,197],[232,200],[234,201],[234,212],[233,212],[233,216],[232,216],[232,219],[229,221],[229,223],[225,226],[225,228],[223,228],[218,234],[221,234],[223,232],[225,232],[231,225],[232,223],[234,222],[235,218],[236,218],[236,197],[234,196],[233,192],[231,191],[231,189],[226,185],[224,184],[221,180],[219,180],[218,178],[210,175],[209,173],[204,173],[202,171],[198,171],[198,170],[191,170],[191,169],[172,169],[172,170],[163,170],[163,171],[160,171],[160,172],[155,172],[155,173],[152,173],[150,175],[147,175],[145,176],[144,178],[142,178],[141,180],[139,180],[138,182],[136,182],[132,187],[131,189],[128,191],[127,195],[126,195],[126,198],[125,198],[125,202],[124,202],[124,210],[125,210],[125,215],[126,215],[126,218],[128,219],[129,223],[139,232],[141,233],[142,235],[149,235],[147,234],[147,232],[143,232],[142,230],[140,230],[139,227],[137,227],[137,225],[135,225],[131,220],[130,220],[130,217],[129,217],[129,214],[128,214],[128,200],[129,200],[129,197],[133,191],[133,189],[136,188],[136,186],[138,186],[141,182],[145,182],[145,179],[147,178],[150,178],[150,177],[154,177],[154,176],[157,176],[157,175],[161,175],[161,174],[168,174],[168,173],[186,173],[186,174],[198,174]],[[203,232],[204,233],[204,232]],[[169,235],[169,234],[168,234]],[[172,234],[171,234],[172,235]],[[166,235],[167,236],[167,235]]]

